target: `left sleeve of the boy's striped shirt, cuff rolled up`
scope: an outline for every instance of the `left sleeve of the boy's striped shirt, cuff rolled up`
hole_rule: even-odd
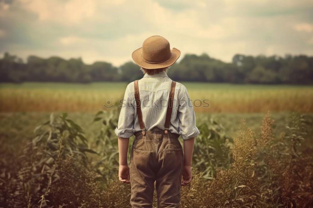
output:
[[[134,113],[135,108],[133,106],[133,93],[130,93],[129,88],[131,83],[126,87],[123,104],[121,106],[121,112],[118,119],[117,127],[115,128],[115,134],[121,138],[129,138],[134,135]]]

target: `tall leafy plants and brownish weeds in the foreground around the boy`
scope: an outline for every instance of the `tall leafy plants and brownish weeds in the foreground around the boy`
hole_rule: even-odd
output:
[[[117,116],[116,109],[96,114],[94,122],[103,127],[94,148],[62,114],[37,127],[18,157],[1,152],[1,206],[130,207],[130,186],[117,177]],[[215,121],[200,124],[181,207],[311,207],[312,150],[300,144],[311,138],[312,121],[295,115],[277,134],[273,125],[267,113],[260,135],[243,121],[238,135],[228,138]]]

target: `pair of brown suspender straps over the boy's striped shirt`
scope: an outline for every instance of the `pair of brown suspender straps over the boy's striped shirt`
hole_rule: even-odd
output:
[[[169,98],[168,98],[166,120],[165,120],[165,124],[164,124],[164,129],[165,129],[164,133],[166,133],[166,134],[167,134],[168,128],[170,127],[175,86],[176,86],[176,82],[172,81],[171,92],[170,92],[170,95],[169,95]],[[142,134],[145,135],[145,127],[143,125],[142,112],[141,112],[141,103],[140,103],[140,97],[139,97],[138,80],[136,80],[134,82],[134,88],[135,88],[135,101],[136,101],[138,122],[139,122],[139,126],[141,128]]]

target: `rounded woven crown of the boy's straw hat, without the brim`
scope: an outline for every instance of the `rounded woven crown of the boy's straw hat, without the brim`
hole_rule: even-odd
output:
[[[149,63],[159,63],[171,57],[170,43],[162,36],[148,37],[142,44],[142,58]]]

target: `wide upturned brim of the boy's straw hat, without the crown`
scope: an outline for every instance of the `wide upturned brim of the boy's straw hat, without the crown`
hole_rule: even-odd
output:
[[[134,62],[145,69],[159,69],[159,68],[165,68],[173,65],[177,59],[179,58],[181,52],[177,48],[173,48],[171,50],[171,56],[165,60],[164,62],[160,63],[148,63],[142,58],[142,47],[136,49],[132,54],[131,57],[133,58]]]

